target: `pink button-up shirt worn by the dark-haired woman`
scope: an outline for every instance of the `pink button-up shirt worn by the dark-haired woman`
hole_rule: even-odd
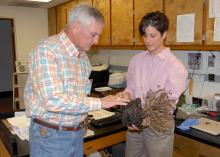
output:
[[[170,98],[177,102],[185,89],[187,76],[186,68],[169,48],[156,55],[143,51],[129,63],[127,90],[133,99],[140,97],[143,100],[150,89],[157,91],[164,88],[171,92]]]

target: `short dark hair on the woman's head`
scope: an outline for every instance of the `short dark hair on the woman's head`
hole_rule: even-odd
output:
[[[169,20],[165,14],[159,11],[150,12],[142,18],[139,24],[139,32],[142,36],[148,26],[156,28],[163,35],[168,30]]]

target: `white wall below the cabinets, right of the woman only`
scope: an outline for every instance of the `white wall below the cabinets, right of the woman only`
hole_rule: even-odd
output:
[[[209,51],[175,51],[175,55],[183,62],[188,68],[188,53],[201,53],[202,65],[200,70],[195,70],[193,75],[193,96],[198,98],[206,98],[220,93],[220,51],[212,51],[215,55],[215,67],[208,67],[208,56],[212,56]],[[188,71],[192,73],[192,70]],[[208,74],[215,74],[216,82],[205,80]]]

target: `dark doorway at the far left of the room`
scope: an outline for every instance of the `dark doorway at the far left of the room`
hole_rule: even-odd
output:
[[[0,97],[12,96],[14,62],[14,21],[0,18]]]

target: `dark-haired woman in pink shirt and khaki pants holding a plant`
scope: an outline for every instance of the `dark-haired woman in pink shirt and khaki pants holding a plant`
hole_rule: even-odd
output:
[[[165,47],[168,31],[168,18],[161,12],[145,15],[139,25],[147,50],[135,55],[128,67],[127,88],[118,94],[120,98],[141,98],[149,91],[158,88],[170,92],[169,99],[175,110],[179,96],[184,91],[187,70],[182,63]],[[161,104],[163,105],[163,104]],[[128,126],[126,157],[171,157],[173,152],[174,121],[166,132],[155,133],[150,127],[138,130],[135,125]]]

